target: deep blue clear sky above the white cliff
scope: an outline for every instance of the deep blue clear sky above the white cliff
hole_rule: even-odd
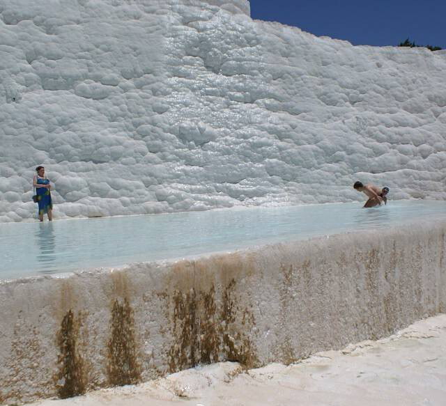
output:
[[[251,17],[298,26],[353,45],[446,49],[446,0],[250,0]]]

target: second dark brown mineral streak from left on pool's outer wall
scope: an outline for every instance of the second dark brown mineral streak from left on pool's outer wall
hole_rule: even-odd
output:
[[[141,366],[135,340],[134,316],[128,299],[114,301],[110,330],[107,343],[109,384],[122,386],[140,382]]]

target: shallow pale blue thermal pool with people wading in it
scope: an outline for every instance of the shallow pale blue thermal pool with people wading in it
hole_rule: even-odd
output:
[[[0,279],[183,258],[254,245],[446,219],[444,201],[232,208],[0,224]]]

